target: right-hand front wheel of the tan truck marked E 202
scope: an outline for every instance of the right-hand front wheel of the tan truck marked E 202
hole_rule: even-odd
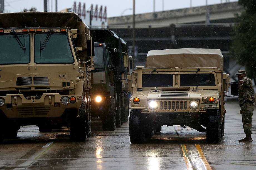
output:
[[[77,111],[79,117],[77,117]],[[82,97],[81,107],[70,113],[70,139],[72,141],[85,141],[87,139],[86,123],[85,98]]]

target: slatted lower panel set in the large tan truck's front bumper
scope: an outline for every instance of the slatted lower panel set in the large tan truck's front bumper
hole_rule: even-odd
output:
[[[50,107],[19,107],[17,111],[23,115],[47,115],[47,113],[51,110]]]

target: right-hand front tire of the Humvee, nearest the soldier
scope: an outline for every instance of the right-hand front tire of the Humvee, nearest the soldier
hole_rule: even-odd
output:
[[[206,110],[209,114],[208,125],[206,127],[207,143],[219,143],[221,136],[220,110],[209,109]]]

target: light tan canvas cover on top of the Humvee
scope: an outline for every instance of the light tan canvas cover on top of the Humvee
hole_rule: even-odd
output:
[[[167,49],[148,52],[146,68],[174,67],[217,67],[223,71],[223,55],[220,49]]]

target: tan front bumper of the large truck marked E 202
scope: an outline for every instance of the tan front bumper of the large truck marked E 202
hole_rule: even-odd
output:
[[[75,103],[63,105],[61,97],[75,97]],[[66,109],[80,108],[82,95],[60,95],[44,93],[40,99],[26,99],[22,94],[8,94],[1,97],[5,100],[0,110],[8,118],[60,117]]]

